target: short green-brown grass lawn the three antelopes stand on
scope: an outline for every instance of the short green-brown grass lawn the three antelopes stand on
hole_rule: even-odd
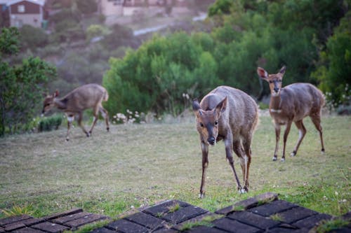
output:
[[[201,150],[194,122],[114,125],[110,133],[99,124],[90,138],[75,127],[69,142],[65,127],[0,139],[0,209],[17,207],[40,217],[81,207],[113,218],[164,199],[215,211],[276,192],[280,199],[322,213],[350,211],[351,117],[323,118],[325,154],[320,153],[317,130],[306,119],[307,135],[298,155],[290,157],[298,139],[293,126],[284,163],[272,162],[274,127],[270,117],[260,117],[253,136],[250,192],[236,192],[220,142],[210,148],[204,199],[198,199]],[[242,180],[237,160],[235,167]]]

